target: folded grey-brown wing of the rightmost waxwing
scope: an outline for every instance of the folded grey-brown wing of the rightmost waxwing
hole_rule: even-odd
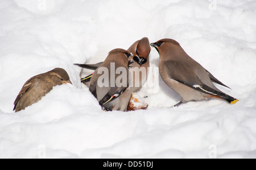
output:
[[[170,78],[188,86],[189,88],[195,89],[201,93],[210,94],[214,96],[226,96],[225,93],[222,93],[216,89],[213,89],[209,85],[205,84],[203,80],[192,70],[196,71],[195,66],[188,67],[181,61],[166,61],[164,63],[164,69],[167,70]]]

